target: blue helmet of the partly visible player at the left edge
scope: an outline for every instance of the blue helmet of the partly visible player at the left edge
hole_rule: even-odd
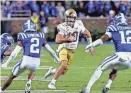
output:
[[[2,34],[0,38],[1,38],[2,43],[8,44],[8,45],[11,45],[14,43],[14,39],[9,33]]]

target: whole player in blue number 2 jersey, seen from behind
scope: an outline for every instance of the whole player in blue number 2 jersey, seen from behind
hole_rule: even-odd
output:
[[[23,57],[22,59],[14,66],[12,70],[12,75],[5,81],[1,91],[4,91],[16,78],[25,70],[29,70],[28,81],[25,86],[25,93],[30,93],[31,81],[35,75],[36,70],[40,66],[40,55],[42,46],[59,62],[59,58],[53,49],[45,41],[44,33],[37,32],[36,25],[31,21],[27,20],[23,25],[23,32],[18,33],[17,36],[17,45],[14,51],[11,53],[9,59],[2,65],[7,67],[12,59],[14,59],[17,54],[23,48]]]

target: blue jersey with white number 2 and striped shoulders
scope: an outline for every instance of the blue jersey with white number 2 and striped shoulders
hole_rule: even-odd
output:
[[[44,33],[21,32],[18,33],[17,39],[22,42],[24,55],[36,58],[40,57],[41,48],[45,41]]]

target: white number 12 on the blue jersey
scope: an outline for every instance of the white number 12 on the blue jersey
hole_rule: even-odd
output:
[[[121,43],[122,44],[131,44],[131,31],[128,30],[126,33],[124,31],[119,32],[121,34]]]

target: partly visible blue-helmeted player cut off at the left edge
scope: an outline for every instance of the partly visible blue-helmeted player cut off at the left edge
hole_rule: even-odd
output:
[[[12,49],[11,45],[14,43],[13,37],[9,33],[4,33],[0,36],[1,39],[1,59],[0,62],[2,63],[6,56],[10,56]]]

